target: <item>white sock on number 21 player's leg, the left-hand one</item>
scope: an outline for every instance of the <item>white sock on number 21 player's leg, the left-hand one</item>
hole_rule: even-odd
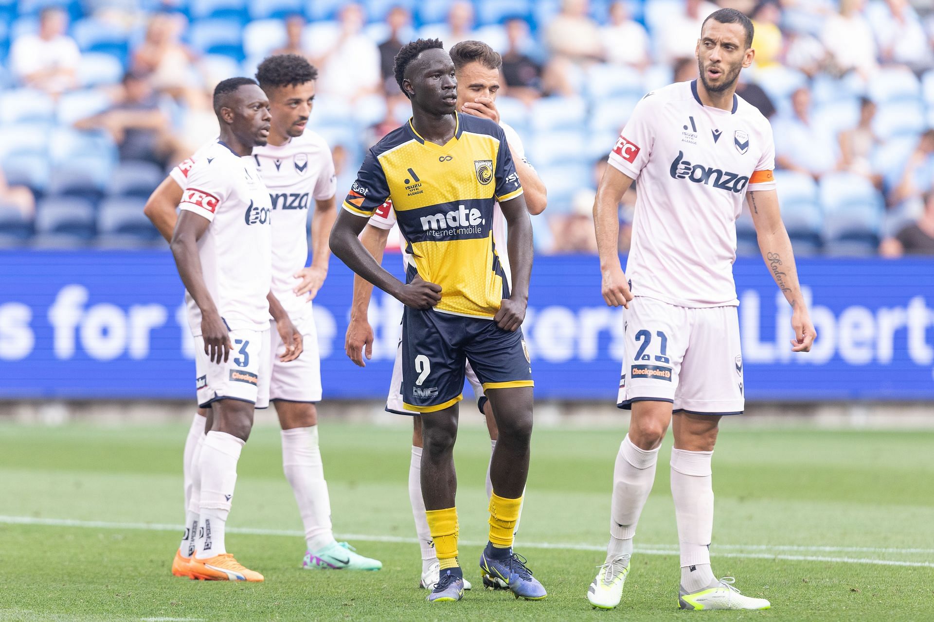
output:
[[[626,435],[616,454],[613,471],[613,501],[610,509],[610,543],[606,561],[632,555],[632,537],[645,500],[655,482],[658,448],[639,449]]]

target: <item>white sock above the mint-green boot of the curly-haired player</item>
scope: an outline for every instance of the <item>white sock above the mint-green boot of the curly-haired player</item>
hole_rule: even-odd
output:
[[[282,469],[298,502],[308,549],[319,551],[332,544],[331,497],[324,480],[317,425],[282,430]]]

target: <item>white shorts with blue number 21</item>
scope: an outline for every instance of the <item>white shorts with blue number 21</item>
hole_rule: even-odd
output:
[[[635,297],[616,405],[672,402],[674,411],[743,413],[743,355],[736,307],[691,309]]]

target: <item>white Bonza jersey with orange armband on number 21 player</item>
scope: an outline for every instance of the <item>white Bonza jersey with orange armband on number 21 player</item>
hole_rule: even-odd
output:
[[[697,82],[645,95],[610,165],[636,180],[626,275],[634,296],[681,307],[738,305],[736,219],[748,190],[775,187],[769,121],[741,97],[701,104]]]

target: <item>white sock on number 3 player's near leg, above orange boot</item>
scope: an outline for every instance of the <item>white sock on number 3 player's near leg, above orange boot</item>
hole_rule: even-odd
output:
[[[201,524],[196,557],[206,560],[227,552],[224,526],[236,486],[236,463],[246,441],[212,430],[201,448]],[[201,534],[199,534],[201,535]]]

